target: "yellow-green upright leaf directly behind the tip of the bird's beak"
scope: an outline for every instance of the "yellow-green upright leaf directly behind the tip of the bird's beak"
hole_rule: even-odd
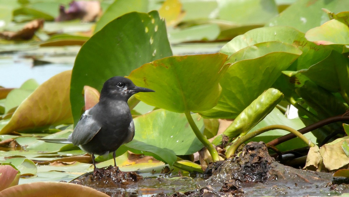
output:
[[[201,112],[219,99],[218,81],[229,66],[224,65],[226,59],[222,53],[171,56],[143,65],[128,78],[155,90],[136,94],[144,103],[178,113]]]

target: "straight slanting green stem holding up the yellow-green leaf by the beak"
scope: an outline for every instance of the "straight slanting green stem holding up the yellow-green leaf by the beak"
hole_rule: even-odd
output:
[[[184,112],[187,120],[190,124],[190,127],[193,129],[194,134],[200,140],[200,142],[207,148],[208,152],[211,154],[213,161],[219,161],[218,153],[215,147],[208,141],[208,139],[200,132],[198,126],[196,126],[192,115],[190,112]]]

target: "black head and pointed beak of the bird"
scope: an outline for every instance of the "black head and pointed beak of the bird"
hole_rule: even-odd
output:
[[[125,77],[112,77],[108,79],[101,90],[102,98],[112,98],[120,100],[128,100],[133,94],[138,92],[155,92],[148,88],[136,86],[130,79]]]

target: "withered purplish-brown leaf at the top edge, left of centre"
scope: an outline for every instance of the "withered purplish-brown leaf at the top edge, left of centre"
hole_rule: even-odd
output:
[[[101,3],[99,1],[72,1],[68,10],[64,6],[59,7],[59,16],[55,21],[69,21],[81,19],[83,22],[94,22],[102,15]]]

